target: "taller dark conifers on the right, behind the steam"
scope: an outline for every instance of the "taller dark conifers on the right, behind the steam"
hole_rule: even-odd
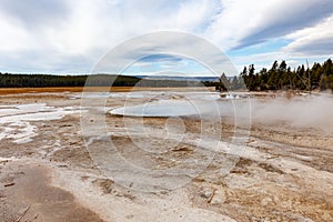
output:
[[[250,91],[265,90],[332,90],[333,91],[333,62],[327,59],[323,63],[315,62],[291,69],[283,60],[274,61],[270,69],[263,68],[255,71],[254,64],[244,67],[239,77],[220,78],[218,90],[248,89]]]

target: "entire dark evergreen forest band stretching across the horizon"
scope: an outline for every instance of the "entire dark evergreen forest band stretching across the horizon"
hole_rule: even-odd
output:
[[[89,81],[87,81],[89,80]],[[215,87],[219,91],[242,90],[332,90],[333,62],[327,59],[323,63],[315,62],[291,69],[283,60],[274,61],[270,69],[255,71],[254,64],[244,67],[238,77],[222,73],[220,82],[157,80],[129,75],[92,74],[92,75],[57,75],[57,74],[11,74],[0,72],[0,88],[46,88],[46,87]]]

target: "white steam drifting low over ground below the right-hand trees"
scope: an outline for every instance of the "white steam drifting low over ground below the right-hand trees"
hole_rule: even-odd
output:
[[[219,103],[220,115],[239,124],[283,123],[294,128],[313,128],[333,132],[333,98],[312,95],[287,98],[251,98]]]

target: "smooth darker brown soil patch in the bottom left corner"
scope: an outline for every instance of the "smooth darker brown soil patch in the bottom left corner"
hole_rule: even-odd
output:
[[[50,185],[48,167],[24,161],[3,163],[1,221],[102,221],[68,191]]]

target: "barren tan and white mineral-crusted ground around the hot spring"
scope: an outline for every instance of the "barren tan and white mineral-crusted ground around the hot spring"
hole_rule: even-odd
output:
[[[75,91],[1,94],[0,221],[333,221],[333,137],[329,132],[285,122],[253,124],[248,147],[230,172],[221,169],[235,157],[220,149],[189,183],[143,192],[119,184],[99,169],[81,135],[79,97]],[[129,99],[113,98],[105,107],[120,107],[124,100]],[[37,121],[6,113],[6,109],[30,103],[44,104],[48,112],[62,109],[61,117]],[[6,122],[7,117],[19,123]],[[170,144],[158,137],[167,120],[144,118],[150,132],[157,133],[148,139],[135,129],[129,132],[122,117],[98,108],[89,121],[101,117],[118,152],[145,168],[169,169],[205,154],[186,141],[161,157],[135,151],[133,139],[155,149]],[[24,121],[29,124],[20,124]],[[183,122],[186,133],[199,137],[198,120],[184,118]],[[34,133],[31,140],[22,134],[28,127]],[[223,129],[220,140],[230,142],[233,123],[225,120],[206,130],[214,132],[214,127]],[[93,142],[99,145],[99,140]]]

